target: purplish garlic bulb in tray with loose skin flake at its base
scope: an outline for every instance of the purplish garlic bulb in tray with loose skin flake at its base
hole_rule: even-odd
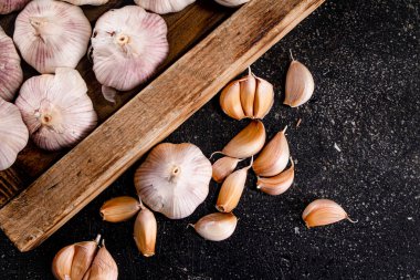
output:
[[[104,96],[129,91],[145,82],[166,59],[169,45],[165,20],[137,6],[104,13],[92,37],[93,71]]]

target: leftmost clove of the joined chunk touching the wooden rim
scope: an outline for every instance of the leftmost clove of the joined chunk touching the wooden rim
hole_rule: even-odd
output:
[[[239,81],[228,84],[220,94],[220,106],[223,112],[238,121],[245,118],[241,104],[241,85]]]

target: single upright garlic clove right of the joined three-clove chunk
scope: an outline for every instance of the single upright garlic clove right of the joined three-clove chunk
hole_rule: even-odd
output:
[[[314,94],[315,83],[309,70],[301,62],[293,60],[286,75],[284,104],[297,107],[306,103]]]

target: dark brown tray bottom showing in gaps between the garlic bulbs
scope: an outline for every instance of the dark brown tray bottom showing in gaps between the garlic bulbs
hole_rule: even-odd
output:
[[[86,17],[92,24],[94,24],[101,14],[109,9],[118,8],[122,3],[123,1],[113,0],[106,6],[84,7],[83,9]],[[231,12],[231,10],[223,9],[216,4],[200,3],[192,4],[182,12],[164,15],[168,23],[170,52],[168,58],[157,70],[156,75],[161,73],[171,63],[185,54],[191,45],[211,32],[220,24],[220,22],[225,20]],[[13,13],[0,20],[0,24],[9,31],[8,33],[10,35],[13,33],[12,30],[15,17],[17,13]],[[77,70],[85,81],[88,81],[88,95],[98,113],[99,123],[104,122],[145,87],[145,85],[141,85],[133,91],[118,95],[116,104],[113,105],[103,98],[101,94],[101,84],[97,83],[92,71],[92,64],[87,58],[84,58],[81,63],[78,63]],[[23,71],[25,79],[38,75],[38,73],[25,63],[23,63]],[[51,167],[65,153],[66,151],[61,153],[45,152],[38,148],[33,143],[29,143],[29,145],[19,154],[17,163],[8,172],[0,172],[0,180],[3,183],[0,184],[0,208]],[[10,173],[24,173],[24,180],[15,180],[14,177],[10,176]]]

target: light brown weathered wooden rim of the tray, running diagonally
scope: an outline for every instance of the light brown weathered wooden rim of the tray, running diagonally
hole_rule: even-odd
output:
[[[21,251],[40,245],[323,1],[242,7],[6,205],[2,230]]]

